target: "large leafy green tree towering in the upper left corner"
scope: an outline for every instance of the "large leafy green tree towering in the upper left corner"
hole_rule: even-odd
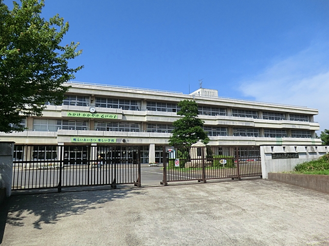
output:
[[[21,0],[9,10],[0,0],[1,132],[23,131],[22,119],[42,115],[46,101],[62,104],[69,89],[63,83],[83,67],[68,68],[82,50],[79,43],[60,45],[69,25],[58,14],[42,18],[43,7],[44,0]]]

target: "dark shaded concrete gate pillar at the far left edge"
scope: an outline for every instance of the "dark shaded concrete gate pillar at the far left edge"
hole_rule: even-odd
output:
[[[14,142],[0,142],[0,188],[6,188],[6,196],[11,195],[13,152]]]

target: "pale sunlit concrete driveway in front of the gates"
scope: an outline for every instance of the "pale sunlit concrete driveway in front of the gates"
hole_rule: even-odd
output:
[[[2,245],[329,245],[329,195],[268,180],[12,196]]]

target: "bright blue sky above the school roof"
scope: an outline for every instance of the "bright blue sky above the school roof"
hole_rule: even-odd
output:
[[[4,1],[9,6],[12,1]],[[329,129],[329,1],[46,0],[80,42],[76,81],[319,109]]]

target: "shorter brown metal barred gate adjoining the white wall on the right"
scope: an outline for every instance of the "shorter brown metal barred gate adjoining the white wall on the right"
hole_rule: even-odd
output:
[[[259,146],[163,148],[162,185],[170,181],[262,176]]]

